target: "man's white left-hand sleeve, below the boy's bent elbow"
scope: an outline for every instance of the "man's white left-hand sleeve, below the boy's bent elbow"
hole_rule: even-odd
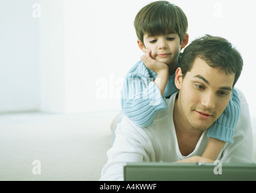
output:
[[[123,181],[123,166],[126,162],[149,161],[152,144],[146,132],[124,116],[115,130],[115,142],[107,151],[107,163],[101,171],[102,181]]]

